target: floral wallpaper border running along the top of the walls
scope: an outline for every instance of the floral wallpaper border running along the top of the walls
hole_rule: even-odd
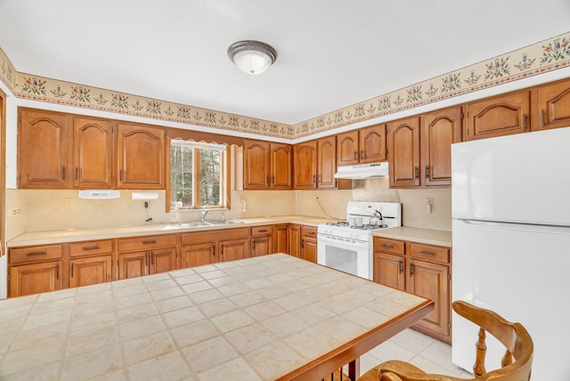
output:
[[[570,32],[289,126],[20,73],[0,48],[0,80],[22,99],[297,139],[570,66]]]

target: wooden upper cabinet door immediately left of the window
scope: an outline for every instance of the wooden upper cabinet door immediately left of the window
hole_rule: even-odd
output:
[[[117,131],[118,189],[164,189],[164,129],[119,123]]]

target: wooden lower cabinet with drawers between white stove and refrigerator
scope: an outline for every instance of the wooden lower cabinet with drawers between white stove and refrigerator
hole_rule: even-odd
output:
[[[444,343],[452,341],[451,249],[374,237],[374,281],[426,297],[435,311],[413,328]]]

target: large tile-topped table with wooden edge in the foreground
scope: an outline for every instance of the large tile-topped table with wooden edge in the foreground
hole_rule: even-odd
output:
[[[433,308],[290,255],[215,263],[0,301],[0,379],[320,379]]]

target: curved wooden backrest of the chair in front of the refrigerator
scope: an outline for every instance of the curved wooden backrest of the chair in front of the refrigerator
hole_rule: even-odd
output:
[[[473,374],[477,380],[528,381],[533,365],[533,339],[520,323],[504,320],[498,313],[463,301],[452,304],[453,310],[479,326]],[[485,370],[485,332],[495,336],[507,349],[501,369]]]

